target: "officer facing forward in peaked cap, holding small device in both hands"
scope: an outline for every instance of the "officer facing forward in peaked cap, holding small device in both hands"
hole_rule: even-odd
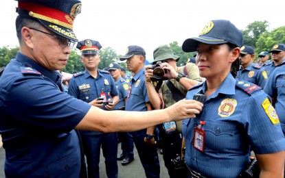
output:
[[[119,101],[115,81],[109,72],[98,70],[101,44],[95,40],[82,40],[77,48],[81,51],[81,61],[86,70],[73,75],[68,93],[95,107],[113,110]],[[102,100],[99,100],[102,97]],[[113,102],[109,103],[108,100]],[[79,131],[84,154],[87,157],[89,177],[99,177],[100,149],[105,157],[106,174],[117,177],[117,134],[97,131]]]

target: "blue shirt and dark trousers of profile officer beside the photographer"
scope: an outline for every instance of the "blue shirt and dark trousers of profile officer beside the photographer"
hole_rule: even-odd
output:
[[[150,102],[146,91],[146,84],[144,81],[145,68],[141,70],[130,81],[130,96],[126,101],[126,111],[146,111],[146,103]],[[159,177],[159,157],[157,155],[157,147],[155,145],[147,145],[144,142],[146,136],[146,129],[131,132],[135,147],[139,153],[139,159],[144,166],[146,177]]]

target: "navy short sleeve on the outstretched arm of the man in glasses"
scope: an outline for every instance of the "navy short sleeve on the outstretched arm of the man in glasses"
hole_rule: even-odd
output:
[[[19,79],[8,89],[8,113],[27,127],[69,132],[91,107],[41,78]]]

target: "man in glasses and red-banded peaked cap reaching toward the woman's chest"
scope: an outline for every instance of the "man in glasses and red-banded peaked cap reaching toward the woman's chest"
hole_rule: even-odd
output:
[[[84,164],[75,129],[135,131],[201,110],[196,101],[181,101],[163,111],[104,111],[60,91],[60,74],[55,71],[65,67],[78,41],[73,22],[80,9],[77,0],[18,3],[20,51],[0,77],[6,177],[80,177]]]

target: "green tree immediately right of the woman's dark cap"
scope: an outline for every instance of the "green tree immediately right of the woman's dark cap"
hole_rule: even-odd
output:
[[[242,30],[243,44],[256,48],[256,42],[269,29],[267,21],[254,21]]]

